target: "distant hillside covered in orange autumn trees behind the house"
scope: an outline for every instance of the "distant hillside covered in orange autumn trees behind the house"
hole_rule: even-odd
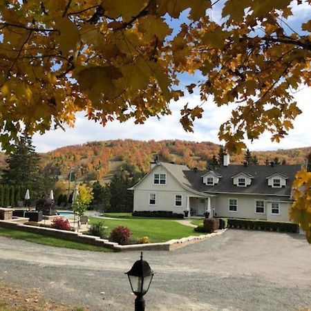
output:
[[[45,167],[59,179],[68,178],[71,168],[75,180],[101,180],[106,182],[120,169],[131,171],[148,171],[150,162],[157,154],[161,160],[187,164],[189,167],[205,169],[208,158],[217,156],[219,146],[212,142],[188,142],[182,140],[162,140],[156,142],[139,140],[107,140],[88,142],[68,147],[62,147],[41,153],[42,167]],[[266,158],[275,157],[288,164],[305,161],[311,147],[287,149],[278,151],[252,152],[258,158],[259,164],[264,164]],[[5,166],[4,156],[0,157],[0,168]],[[241,164],[243,154],[231,156],[230,162]]]

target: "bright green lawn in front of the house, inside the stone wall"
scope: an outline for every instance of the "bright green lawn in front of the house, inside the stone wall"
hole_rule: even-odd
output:
[[[103,221],[100,218],[91,217],[89,223],[96,223]],[[117,226],[126,226],[131,229],[133,235],[132,240],[136,240],[142,236],[148,236],[151,239],[151,243],[166,242],[173,238],[185,238],[186,236],[200,235],[198,232],[194,232],[194,228],[181,225],[176,220],[168,219],[154,219],[154,218],[131,218],[131,219],[104,219],[104,226],[108,227],[107,235],[111,232],[111,229]]]

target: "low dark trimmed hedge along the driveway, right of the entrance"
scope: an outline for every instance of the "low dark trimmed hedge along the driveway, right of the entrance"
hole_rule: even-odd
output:
[[[299,225],[297,225],[296,223],[281,223],[267,220],[229,218],[228,227],[279,232],[299,232]]]

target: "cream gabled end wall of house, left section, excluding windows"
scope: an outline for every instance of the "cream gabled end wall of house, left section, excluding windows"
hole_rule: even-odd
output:
[[[153,185],[154,173],[166,173],[166,185]],[[156,205],[149,204],[149,195],[156,194]],[[182,196],[182,205],[175,205],[175,196]],[[172,211],[183,214],[187,209],[187,197],[196,196],[184,189],[164,168],[158,166],[134,189],[134,211]],[[189,200],[190,202],[190,200]],[[191,207],[191,204],[190,206]],[[193,207],[192,207],[193,208]]]

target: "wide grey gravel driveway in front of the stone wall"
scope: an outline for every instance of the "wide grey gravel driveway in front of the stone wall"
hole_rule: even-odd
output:
[[[99,253],[0,237],[0,282],[90,310],[133,310],[124,272],[139,252]],[[156,271],[147,310],[311,307],[311,245],[299,234],[229,229],[175,252],[144,252]],[[104,292],[104,294],[101,294]]]

